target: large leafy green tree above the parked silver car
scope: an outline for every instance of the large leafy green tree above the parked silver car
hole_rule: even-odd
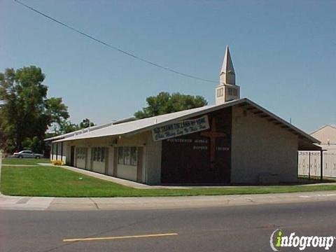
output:
[[[0,144],[7,151],[27,145],[34,146],[33,151],[42,151],[48,127],[69,118],[62,98],[47,98],[44,79],[36,66],[0,73]]]

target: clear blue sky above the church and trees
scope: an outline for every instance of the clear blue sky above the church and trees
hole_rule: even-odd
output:
[[[21,0],[158,64],[218,80],[230,46],[241,97],[311,132],[336,124],[336,1]],[[216,83],[157,69],[0,0],[0,71],[36,65],[71,121],[131,116],[161,91],[200,94]]]

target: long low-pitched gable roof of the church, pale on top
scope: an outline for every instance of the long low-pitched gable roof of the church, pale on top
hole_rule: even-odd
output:
[[[107,137],[107,136],[118,137],[121,135],[127,136],[127,135],[137,134],[140,132],[152,130],[155,127],[160,127],[168,123],[173,123],[175,121],[185,120],[187,118],[200,116],[204,113],[217,111],[219,109],[228,108],[230,106],[244,106],[246,110],[251,111],[252,113],[255,113],[255,115],[261,116],[262,118],[266,118],[267,120],[269,120],[270,123],[280,125],[281,127],[283,127],[283,129],[287,129],[290,132],[293,132],[293,134],[296,134],[299,137],[299,140],[301,139],[302,143],[307,143],[307,144],[319,144],[320,143],[320,141],[318,141],[314,137],[311,137],[309,134],[303,132],[302,130],[291,125],[290,123],[279,118],[278,116],[267,111],[266,109],[262,108],[258,104],[255,104],[254,102],[252,102],[251,100],[247,98],[236,99],[231,102],[225,102],[224,104],[219,104],[219,105],[202,106],[196,109],[188,109],[185,111],[168,113],[168,114],[161,115],[161,116],[153,116],[151,118],[144,118],[141,120],[134,120],[134,121],[130,121],[127,123],[111,125],[109,127],[104,127],[99,130],[87,132],[85,134],[80,134],[80,135],[69,137],[66,139],[59,139],[55,142],[71,141],[71,140],[79,140],[79,139],[92,139],[92,138]]]

